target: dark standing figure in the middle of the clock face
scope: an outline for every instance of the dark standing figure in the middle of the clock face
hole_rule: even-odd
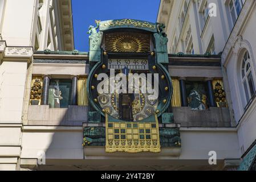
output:
[[[119,95],[119,117],[123,121],[133,121],[132,102],[133,94],[121,93]]]

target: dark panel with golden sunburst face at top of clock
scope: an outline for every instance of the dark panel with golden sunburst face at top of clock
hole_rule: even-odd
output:
[[[105,51],[126,53],[150,52],[149,36],[139,33],[111,33],[105,37]]]

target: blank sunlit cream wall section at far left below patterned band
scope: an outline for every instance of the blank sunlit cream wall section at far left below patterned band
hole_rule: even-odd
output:
[[[21,123],[27,63],[0,65],[0,123]]]

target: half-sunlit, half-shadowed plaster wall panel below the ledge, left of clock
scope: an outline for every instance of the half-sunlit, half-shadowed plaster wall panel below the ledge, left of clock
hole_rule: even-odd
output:
[[[72,127],[70,127],[72,128]],[[45,152],[46,159],[83,159],[83,133],[80,131],[43,131],[22,134],[21,158],[37,158]]]

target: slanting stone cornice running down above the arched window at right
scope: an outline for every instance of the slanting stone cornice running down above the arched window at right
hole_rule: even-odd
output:
[[[247,18],[247,14],[249,13],[249,10],[253,9],[253,3],[255,3],[255,0],[246,0],[245,4],[243,5],[242,11],[237,19],[237,22],[235,23],[233,31],[231,32],[230,37],[227,40],[226,46],[222,53],[222,65],[224,66],[227,64],[227,57],[230,55],[234,42],[238,40],[237,36],[239,36],[239,32],[243,27],[242,26],[243,23],[246,22],[246,18]]]

